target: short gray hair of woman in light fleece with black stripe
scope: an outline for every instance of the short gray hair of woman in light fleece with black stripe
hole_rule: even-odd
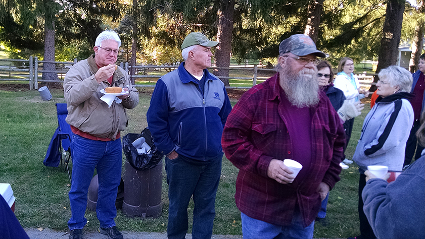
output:
[[[398,66],[382,69],[378,74],[379,79],[386,80],[392,87],[400,87],[397,92],[410,92],[413,83],[412,73]]]

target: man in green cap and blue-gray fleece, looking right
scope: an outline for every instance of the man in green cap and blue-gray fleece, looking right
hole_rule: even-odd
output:
[[[220,139],[231,110],[223,82],[207,70],[211,47],[217,45],[202,33],[187,35],[181,44],[184,62],[158,80],[147,113],[155,145],[167,156],[168,238],[185,237],[192,196],[192,238],[212,235],[223,157]]]

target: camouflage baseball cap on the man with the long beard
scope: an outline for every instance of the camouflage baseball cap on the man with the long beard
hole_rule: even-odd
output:
[[[326,54],[316,48],[314,41],[307,35],[296,34],[280,42],[279,54],[291,52],[298,56],[315,54],[319,57],[326,57]]]

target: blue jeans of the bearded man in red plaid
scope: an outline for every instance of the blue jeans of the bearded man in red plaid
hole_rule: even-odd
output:
[[[297,207],[298,208],[298,207]],[[295,210],[292,224],[289,226],[274,225],[265,221],[257,220],[241,212],[242,235],[244,239],[257,238],[313,238],[314,221],[304,228],[299,209]]]

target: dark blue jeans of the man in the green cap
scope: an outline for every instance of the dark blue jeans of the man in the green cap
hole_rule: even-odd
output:
[[[223,153],[206,165],[196,165],[180,156],[165,157],[168,198],[168,238],[185,238],[188,229],[187,206],[193,195],[192,238],[211,238],[215,217],[215,195],[221,174]]]

